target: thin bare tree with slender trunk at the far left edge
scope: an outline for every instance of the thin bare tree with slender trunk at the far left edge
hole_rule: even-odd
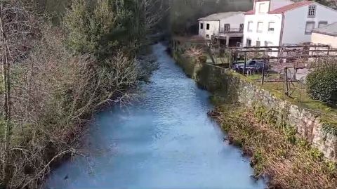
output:
[[[4,83],[4,147],[1,155],[3,161],[2,179],[6,184],[10,173],[9,145],[11,141],[11,64],[25,57],[29,49],[29,40],[34,38],[37,19],[22,9],[20,2],[0,1],[0,40],[1,64]]]

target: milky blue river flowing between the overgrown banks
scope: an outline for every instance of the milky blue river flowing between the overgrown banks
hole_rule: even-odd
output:
[[[153,46],[159,70],[138,103],[102,112],[90,131],[90,161],[55,169],[50,189],[262,189],[242,152],[206,112],[209,93]]]

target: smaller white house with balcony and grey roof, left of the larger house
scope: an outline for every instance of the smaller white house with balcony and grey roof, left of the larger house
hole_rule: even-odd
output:
[[[243,12],[216,13],[199,18],[199,36],[204,39],[216,37],[227,46],[241,42],[244,31]],[[232,40],[232,41],[230,41]]]

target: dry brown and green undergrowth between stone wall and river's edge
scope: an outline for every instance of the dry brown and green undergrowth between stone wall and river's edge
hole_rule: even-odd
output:
[[[230,143],[251,156],[255,176],[266,176],[270,188],[335,188],[337,164],[296,136],[292,126],[276,123],[272,110],[220,105],[218,121]],[[245,117],[245,119],[242,119]]]

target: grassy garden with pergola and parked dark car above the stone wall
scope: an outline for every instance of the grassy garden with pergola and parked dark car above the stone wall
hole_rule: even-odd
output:
[[[337,109],[312,100],[305,84],[312,65],[322,58],[336,59],[337,49],[320,44],[226,48],[212,41],[192,41],[207,54],[207,63],[244,74],[263,89],[337,122]]]

